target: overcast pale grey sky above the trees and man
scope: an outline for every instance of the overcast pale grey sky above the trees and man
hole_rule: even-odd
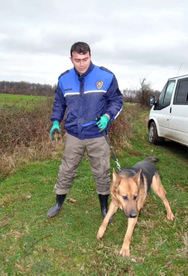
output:
[[[70,47],[90,45],[120,89],[188,74],[188,1],[0,0],[0,80],[57,83]]]

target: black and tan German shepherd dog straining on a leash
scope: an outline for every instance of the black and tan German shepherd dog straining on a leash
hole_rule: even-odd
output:
[[[128,217],[127,232],[120,251],[122,257],[129,256],[129,245],[132,232],[137,223],[140,209],[146,203],[150,193],[150,187],[164,202],[167,210],[168,220],[174,220],[175,217],[170,209],[166,197],[166,191],[161,184],[160,176],[155,164],[157,157],[147,157],[142,162],[136,163],[132,167],[124,167],[119,174],[113,169],[113,180],[111,182],[112,201],[97,234],[97,239],[101,239],[107,228],[110,217],[121,208],[126,217]]]

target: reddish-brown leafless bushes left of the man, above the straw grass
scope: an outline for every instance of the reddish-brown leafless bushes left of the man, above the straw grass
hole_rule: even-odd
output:
[[[26,105],[2,105],[0,109],[0,154],[13,153],[15,147],[49,140],[50,116],[53,98],[34,103],[34,109]]]

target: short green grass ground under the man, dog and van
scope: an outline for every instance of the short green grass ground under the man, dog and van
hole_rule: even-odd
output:
[[[127,149],[116,155],[121,167],[149,155],[160,159],[156,165],[176,219],[167,222],[162,201],[151,191],[133,232],[131,256],[122,258],[118,252],[127,219],[121,210],[103,239],[96,240],[102,219],[88,159],[80,163],[68,194],[77,202],[65,201],[53,220],[46,212],[54,204],[53,186],[61,160],[22,165],[0,181],[1,275],[187,275],[188,148],[170,141],[150,145],[147,115],[142,112],[134,122],[130,141],[131,151],[142,155],[130,156]],[[114,166],[111,158],[111,173]]]

